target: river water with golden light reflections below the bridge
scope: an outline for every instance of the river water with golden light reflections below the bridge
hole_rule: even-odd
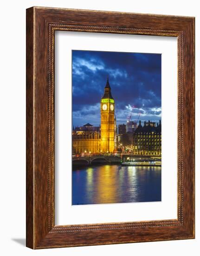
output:
[[[155,201],[161,201],[161,167],[73,168],[72,205]]]

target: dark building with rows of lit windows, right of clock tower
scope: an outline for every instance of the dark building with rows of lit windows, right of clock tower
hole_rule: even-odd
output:
[[[133,135],[135,155],[161,156],[161,121],[155,126],[155,122],[141,121]]]

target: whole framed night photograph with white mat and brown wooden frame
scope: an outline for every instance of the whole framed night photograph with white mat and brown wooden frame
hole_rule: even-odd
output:
[[[26,246],[194,238],[194,17],[26,10]]]

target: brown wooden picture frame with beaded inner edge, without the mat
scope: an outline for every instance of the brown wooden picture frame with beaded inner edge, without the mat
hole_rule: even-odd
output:
[[[177,219],[55,225],[54,34],[56,30],[177,37]],[[193,238],[194,17],[47,7],[28,8],[26,10],[26,246],[43,249]]]

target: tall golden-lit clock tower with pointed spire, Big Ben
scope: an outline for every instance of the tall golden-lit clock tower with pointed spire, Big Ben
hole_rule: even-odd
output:
[[[112,153],[115,148],[115,101],[111,94],[109,79],[101,98],[101,151]]]

